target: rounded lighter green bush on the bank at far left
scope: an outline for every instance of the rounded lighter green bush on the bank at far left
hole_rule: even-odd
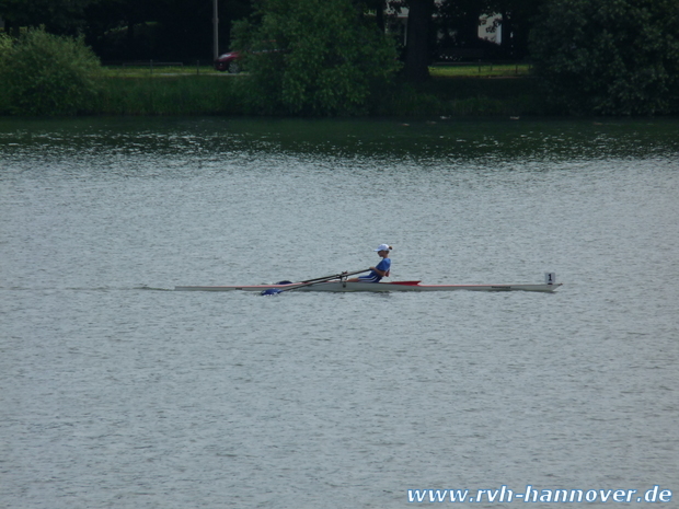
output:
[[[0,60],[0,88],[10,113],[76,115],[92,109],[100,70],[82,38],[31,30]]]

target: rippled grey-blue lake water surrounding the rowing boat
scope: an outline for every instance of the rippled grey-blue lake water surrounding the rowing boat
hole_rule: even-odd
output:
[[[676,507],[678,218],[677,120],[0,120],[0,506]],[[171,291],[383,242],[391,280],[564,286]]]

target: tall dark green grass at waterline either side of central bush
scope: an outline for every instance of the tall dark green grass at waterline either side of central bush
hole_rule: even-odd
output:
[[[106,78],[94,114],[252,115],[240,97],[238,77]],[[540,115],[543,106],[530,78],[436,77],[413,86],[396,83],[369,115]]]

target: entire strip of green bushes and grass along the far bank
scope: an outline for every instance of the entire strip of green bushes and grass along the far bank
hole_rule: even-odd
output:
[[[431,1],[410,0],[411,11]],[[103,68],[82,37],[44,28],[15,39],[0,34],[0,114],[679,114],[676,0],[536,0],[541,9],[531,25],[530,60],[425,65],[415,73],[406,72],[407,58],[398,58],[383,20],[366,14],[369,3],[381,4],[253,3],[232,30],[234,47],[246,49],[240,60],[245,72],[238,76],[152,60]],[[497,8],[492,3],[487,12]]]

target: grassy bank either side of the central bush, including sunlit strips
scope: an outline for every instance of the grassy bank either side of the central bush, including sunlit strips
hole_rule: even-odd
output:
[[[431,68],[422,85],[394,83],[368,115],[540,115],[544,108],[527,66],[468,65]],[[93,115],[254,115],[243,101],[243,76],[209,67],[105,68]],[[0,91],[0,113],[2,111]]]

